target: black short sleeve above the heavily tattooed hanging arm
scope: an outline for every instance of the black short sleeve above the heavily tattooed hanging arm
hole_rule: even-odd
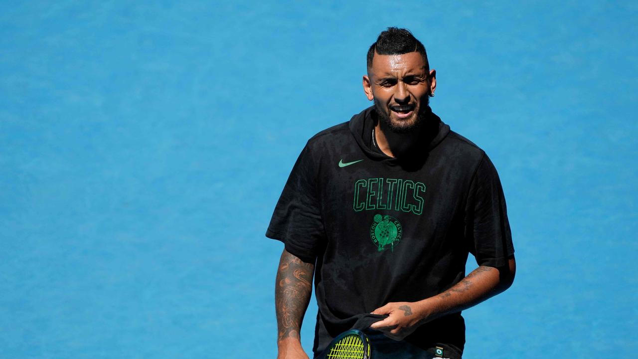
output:
[[[316,167],[306,145],[288,176],[266,231],[268,238],[283,241],[290,254],[306,263],[315,263],[325,238]]]

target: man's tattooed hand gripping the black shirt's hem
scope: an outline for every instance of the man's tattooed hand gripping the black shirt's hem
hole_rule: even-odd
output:
[[[383,307],[375,309],[372,314],[382,314],[388,317],[373,323],[370,328],[383,332],[390,339],[402,340],[419,327],[422,315],[415,310],[415,303],[387,303]]]

